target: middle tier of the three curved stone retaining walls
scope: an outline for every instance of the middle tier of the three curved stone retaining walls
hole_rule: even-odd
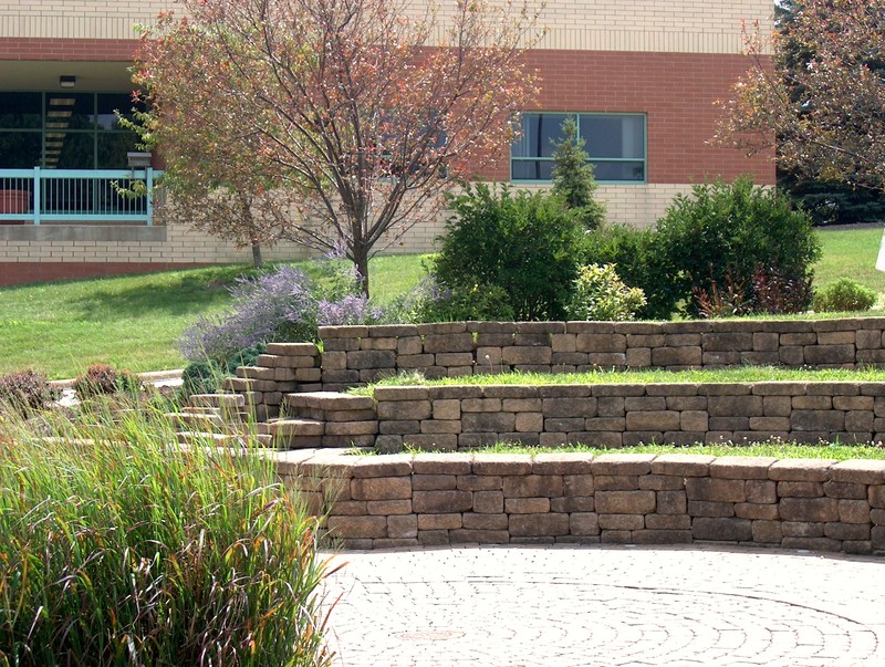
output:
[[[885,383],[376,387],[383,450],[885,439]]]

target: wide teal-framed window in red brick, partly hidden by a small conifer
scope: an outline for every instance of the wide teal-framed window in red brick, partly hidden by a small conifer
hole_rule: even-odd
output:
[[[644,114],[524,113],[519,138],[510,148],[512,180],[550,180],[553,143],[562,139],[562,123],[569,116],[577,123],[577,136],[585,142],[596,180],[645,183]]]

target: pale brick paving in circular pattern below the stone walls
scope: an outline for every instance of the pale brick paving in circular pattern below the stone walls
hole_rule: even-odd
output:
[[[885,562],[708,548],[347,552],[337,665],[885,665]]]

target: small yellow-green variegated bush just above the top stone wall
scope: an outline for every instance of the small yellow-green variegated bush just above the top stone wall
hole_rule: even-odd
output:
[[[577,272],[566,312],[572,320],[635,320],[644,305],[643,291],[625,285],[614,264],[587,264]]]

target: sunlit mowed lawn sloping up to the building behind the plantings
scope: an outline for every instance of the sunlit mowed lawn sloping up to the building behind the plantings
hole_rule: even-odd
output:
[[[882,230],[823,229],[820,238],[815,285],[847,275],[876,290],[882,301],[885,273],[875,270]],[[424,264],[418,254],[374,259],[373,296],[386,302],[406,292],[426,274]],[[34,368],[64,378],[96,362],[134,372],[181,367],[176,347],[181,332],[198,315],[223,311],[228,288],[248,271],[214,267],[2,288],[0,373]]]

